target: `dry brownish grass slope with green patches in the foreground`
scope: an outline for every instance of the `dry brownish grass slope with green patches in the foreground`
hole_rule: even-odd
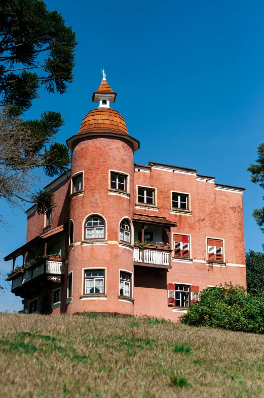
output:
[[[264,336],[0,313],[0,397],[260,397]]]

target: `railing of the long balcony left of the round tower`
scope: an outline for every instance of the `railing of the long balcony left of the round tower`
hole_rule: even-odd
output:
[[[35,267],[31,266],[29,270],[24,271],[22,274],[18,274],[17,277],[12,279],[12,290],[42,274],[63,275],[64,261],[46,260],[38,262]]]

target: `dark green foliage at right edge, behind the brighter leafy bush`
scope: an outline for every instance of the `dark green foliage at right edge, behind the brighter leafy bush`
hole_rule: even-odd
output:
[[[246,253],[247,291],[264,291],[264,253],[249,250]]]

